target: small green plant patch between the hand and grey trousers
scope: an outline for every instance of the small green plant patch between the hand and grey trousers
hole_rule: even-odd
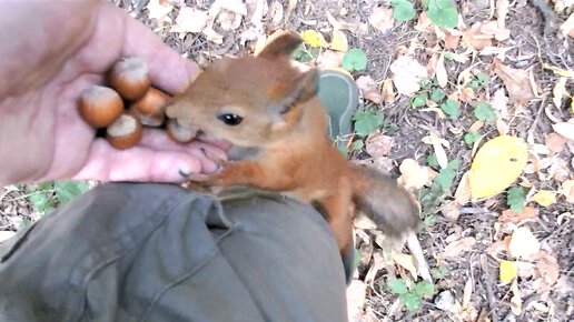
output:
[[[28,202],[36,211],[44,213],[83,194],[89,185],[83,181],[49,181],[29,184],[26,190]]]

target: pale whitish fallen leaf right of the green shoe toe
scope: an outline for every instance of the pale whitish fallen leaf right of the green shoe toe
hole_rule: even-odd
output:
[[[407,97],[419,91],[420,81],[428,78],[426,68],[408,56],[398,57],[390,64],[390,71],[397,91]]]

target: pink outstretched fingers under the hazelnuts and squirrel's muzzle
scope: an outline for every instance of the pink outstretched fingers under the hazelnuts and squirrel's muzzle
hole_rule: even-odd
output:
[[[205,157],[204,157],[205,158]],[[207,161],[209,162],[209,161]],[[180,151],[133,147],[117,150],[97,139],[83,168],[72,179],[101,181],[182,182],[181,173],[201,173],[201,158]],[[209,168],[216,169],[216,164]]]

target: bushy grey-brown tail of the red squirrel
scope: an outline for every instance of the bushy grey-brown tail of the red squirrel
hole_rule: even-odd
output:
[[[420,220],[418,205],[396,180],[367,167],[354,169],[353,200],[358,211],[386,235],[397,237],[416,230]]]

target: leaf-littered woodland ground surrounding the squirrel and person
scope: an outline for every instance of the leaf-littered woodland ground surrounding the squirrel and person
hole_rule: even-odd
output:
[[[348,48],[366,54],[366,68],[352,74],[365,111],[383,115],[384,123],[367,138],[344,139],[354,162],[400,175],[418,198],[424,222],[418,240],[434,286],[430,294],[418,294],[408,272],[413,259],[383,251],[376,231],[357,228],[360,256],[348,291],[352,321],[574,319],[574,110],[567,95],[574,78],[573,32],[567,36],[567,30],[560,29],[574,8],[571,3],[570,9],[558,6],[568,1],[457,1],[459,21],[454,30],[425,22],[420,1],[416,1],[415,18],[406,22],[393,22],[389,1],[375,0],[268,1],[267,6],[261,0],[113,2],[202,66],[222,56],[249,54],[258,39],[276,29],[311,30],[313,37],[324,38],[319,49],[311,46],[313,37],[307,39],[306,48],[316,59],[308,64],[340,64],[346,49],[328,49],[336,29]],[[217,17],[212,26],[209,17]],[[172,32],[178,28],[179,32]],[[413,60],[397,67],[395,62],[403,56]],[[406,79],[415,62],[429,72],[432,82],[406,94],[399,78]],[[566,78],[564,87],[557,85],[562,78]],[[412,108],[414,97],[436,90],[456,102],[454,117],[441,107],[444,98],[429,95],[420,107]],[[481,101],[493,112],[483,121],[475,110]],[[465,142],[473,131],[478,140]],[[515,188],[523,187],[518,201],[513,201],[508,189],[472,200],[455,193],[467,187],[464,174],[476,149],[499,134],[521,138],[527,144],[526,165],[513,182]],[[427,158],[430,154],[434,157]],[[429,160],[441,157],[458,164],[444,167]],[[410,159],[416,162],[408,168],[405,160]],[[494,155],[486,163],[495,164],[496,159]],[[423,172],[408,178],[415,171]],[[502,175],[496,171],[501,169],[487,170],[481,180],[496,180]],[[437,180],[446,183],[441,185]],[[38,204],[49,208],[57,190],[55,185],[4,188],[0,192],[0,230],[10,234],[38,220],[43,210]],[[548,192],[540,195],[556,201],[541,201],[536,191]],[[509,212],[509,207],[518,210]],[[412,270],[417,274],[417,269]],[[508,279],[501,273],[509,274]],[[408,290],[389,286],[394,280]],[[420,305],[408,311],[403,303]]]

